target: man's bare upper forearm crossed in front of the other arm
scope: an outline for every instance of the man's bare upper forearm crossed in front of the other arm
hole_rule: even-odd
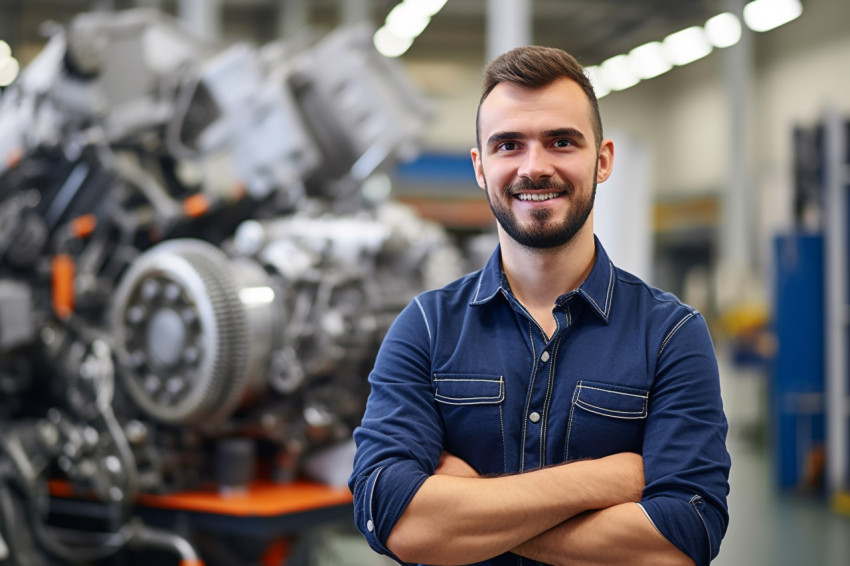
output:
[[[498,478],[437,474],[413,497],[386,545],[405,562],[485,560],[589,509],[637,501],[638,467],[640,457],[631,454]]]

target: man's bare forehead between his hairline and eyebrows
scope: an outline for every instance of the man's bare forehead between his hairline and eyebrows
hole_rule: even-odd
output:
[[[538,127],[575,128],[593,138],[590,101],[578,83],[567,78],[541,88],[499,83],[481,103],[479,127],[482,141],[495,132]]]

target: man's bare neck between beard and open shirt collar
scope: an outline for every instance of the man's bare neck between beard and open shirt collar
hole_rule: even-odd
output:
[[[547,335],[554,330],[552,308],[557,298],[577,289],[593,267],[596,247],[592,226],[587,228],[563,246],[551,249],[522,246],[499,229],[502,269],[511,291]]]

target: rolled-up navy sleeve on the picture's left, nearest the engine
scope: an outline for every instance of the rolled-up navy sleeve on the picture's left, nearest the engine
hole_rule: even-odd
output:
[[[369,375],[366,411],[354,431],[357,452],[348,484],[354,521],[369,545],[388,556],[387,537],[434,473],[442,451],[443,429],[430,380],[431,340],[425,311],[414,300],[381,345]]]

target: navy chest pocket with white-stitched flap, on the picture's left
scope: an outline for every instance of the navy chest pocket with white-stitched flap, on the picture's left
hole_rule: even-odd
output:
[[[503,473],[501,375],[434,374],[434,400],[445,423],[444,448],[481,474]]]

